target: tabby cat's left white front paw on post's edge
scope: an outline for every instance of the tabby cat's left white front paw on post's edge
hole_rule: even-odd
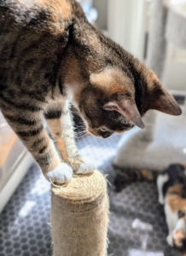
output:
[[[52,183],[67,183],[73,177],[73,169],[66,163],[61,163],[60,166],[45,173],[44,176]]]

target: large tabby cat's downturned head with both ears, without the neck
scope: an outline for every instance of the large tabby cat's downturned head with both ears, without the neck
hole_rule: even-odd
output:
[[[119,68],[107,67],[100,73],[91,73],[86,86],[78,86],[75,102],[90,134],[109,137],[134,125],[144,128],[142,116],[148,109],[181,113],[152,71],[146,68],[143,73],[135,72],[138,80]]]

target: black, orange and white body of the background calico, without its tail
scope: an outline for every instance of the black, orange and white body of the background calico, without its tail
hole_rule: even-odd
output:
[[[157,188],[169,230],[166,241],[186,253],[186,165],[169,166],[158,176]]]

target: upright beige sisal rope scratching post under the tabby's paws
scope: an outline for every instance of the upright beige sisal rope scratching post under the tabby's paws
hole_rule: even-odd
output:
[[[102,173],[52,187],[51,226],[54,256],[107,255],[108,193]]]

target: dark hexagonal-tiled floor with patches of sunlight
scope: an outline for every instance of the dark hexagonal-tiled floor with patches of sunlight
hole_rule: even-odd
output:
[[[108,174],[111,184],[115,175],[112,160],[119,138],[86,137],[78,142],[81,154],[90,156],[96,167]],[[49,183],[33,165],[0,215],[0,256],[52,255],[49,194]],[[120,193],[110,185],[109,197],[108,255],[177,255],[166,244],[167,228],[154,183],[132,183]]]

